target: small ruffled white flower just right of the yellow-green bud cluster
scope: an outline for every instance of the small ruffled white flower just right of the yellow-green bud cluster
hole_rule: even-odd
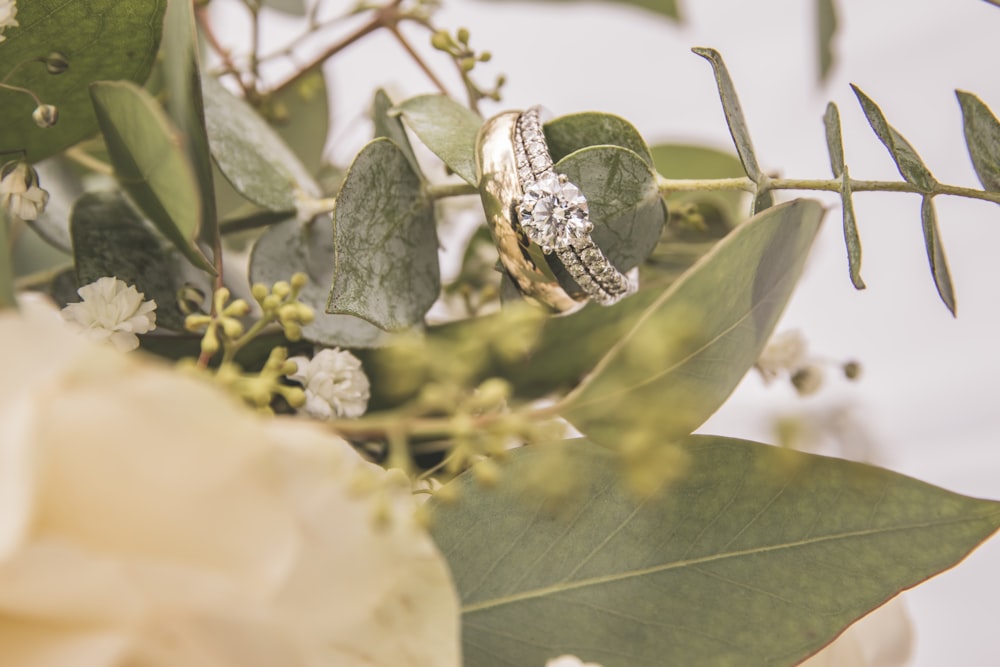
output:
[[[360,417],[368,409],[371,396],[368,376],[361,361],[346,350],[320,350],[310,360],[293,357],[298,370],[289,379],[306,391],[306,413],[317,419]]]

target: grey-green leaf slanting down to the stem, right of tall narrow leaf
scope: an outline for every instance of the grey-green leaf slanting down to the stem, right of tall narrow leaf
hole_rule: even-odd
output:
[[[312,196],[319,186],[274,129],[212,77],[202,81],[212,157],[230,185],[272,211],[295,210],[295,188]]]

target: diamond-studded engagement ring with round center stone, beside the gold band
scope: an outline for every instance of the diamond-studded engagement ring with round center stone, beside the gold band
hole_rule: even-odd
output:
[[[518,219],[525,235],[559,261],[587,295],[611,305],[634,291],[590,238],[593,224],[587,200],[566,176],[553,169],[552,157],[534,106],[517,118],[514,158],[523,196]]]

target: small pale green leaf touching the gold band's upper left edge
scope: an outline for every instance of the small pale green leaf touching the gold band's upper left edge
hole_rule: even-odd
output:
[[[396,107],[431,152],[467,183],[476,183],[476,134],[482,119],[450,97],[420,95]]]

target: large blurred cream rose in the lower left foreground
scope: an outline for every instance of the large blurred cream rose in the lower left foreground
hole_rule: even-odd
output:
[[[380,468],[27,310],[0,313],[0,667],[460,664],[447,567]]]

